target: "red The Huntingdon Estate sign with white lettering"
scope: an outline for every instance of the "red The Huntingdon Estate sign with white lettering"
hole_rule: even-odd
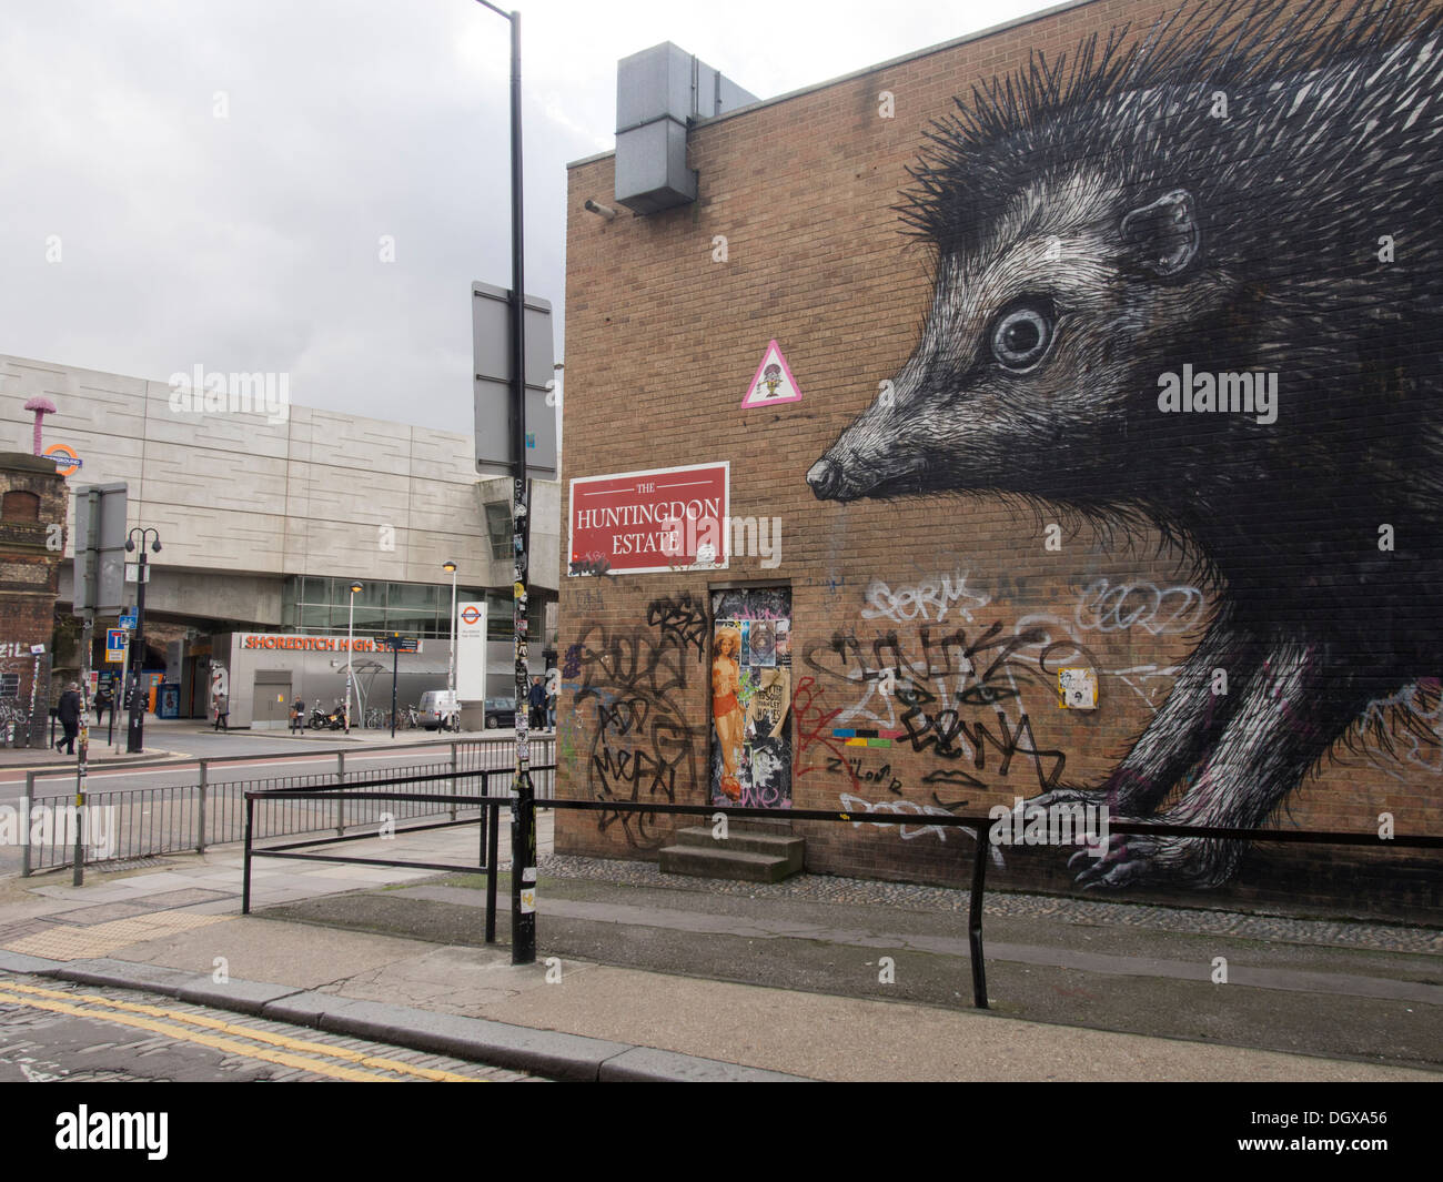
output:
[[[732,465],[571,481],[570,576],[726,570]]]

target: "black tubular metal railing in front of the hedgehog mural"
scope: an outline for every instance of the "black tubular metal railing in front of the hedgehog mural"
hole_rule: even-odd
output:
[[[543,768],[534,768],[535,772],[556,775],[556,766],[548,765]],[[488,776],[501,775],[499,771],[482,772],[482,782],[486,782]],[[505,775],[512,775],[509,769]],[[392,792],[374,791],[381,785],[371,784],[367,785],[368,791],[364,792],[349,792],[349,785],[342,785],[341,789],[329,789],[317,792],[316,798],[341,798],[341,800],[368,800],[368,801],[387,801],[387,800],[407,800],[405,795],[398,795]],[[483,853],[475,866],[453,866],[443,863],[430,862],[401,862],[392,859],[377,859],[377,857],[356,857],[356,856],[341,856],[341,854],[309,854],[303,853],[304,849],[313,849],[320,841],[294,841],[286,846],[271,846],[266,849],[254,847],[254,833],[250,824],[251,810],[257,800],[281,800],[294,795],[287,791],[277,792],[247,792],[245,808],[247,808],[247,827],[245,827],[245,869],[244,869],[244,885],[242,885],[242,914],[250,914],[251,906],[251,859],[253,857],[294,857],[294,859],[312,859],[322,862],[349,862],[369,866],[401,866],[401,867],[416,867],[423,870],[459,870],[470,872],[481,870],[486,875],[486,942],[495,942],[496,937],[496,830],[499,828],[499,810],[504,807],[511,807],[515,804],[515,797],[509,795],[494,795],[491,791],[482,789],[482,794],[476,797],[456,797],[446,794],[434,794],[423,797],[427,801],[436,804],[472,804],[473,807],[481,804],[485,811],[481,814],[481,847]],[[714,818],[717,814],[724,814],[726,817],[739,817],[746,820],[788,820],[788,821],[833,821],[838,824],[854,826],[859,821],[857,813],[843,813],[840,810],[820,810],[820,808],[743,808],[739,805],[700,805],[700,804],[652,804],[648,801],[613,801],[613,800],[557,800],[554,795],[543,800],[541,794],[537,794],[538,808],[573,808],[579,811],[590,813],[662,813],[683,817],[709,817]],[[872,824],[915,824],[915,814],[898,814],[898,813],[866,813],[867,823]],[[987,890],[987,863],[991,860],[988,856],[990,840],[987,834],[991,833],[993,827],[997,824],[996,818],[987,815],[975,817],[935,817],[928,815],[928,824],[942,826],[945,828],[964,828],[970,830],[975,839],[975,852],[973,854],[973,875],[971,875],[971,892],[968,896],[968,911],[967,911],[967,941],[971,951],[971,976],[973,976],[973,1006],[977,1009],[987,1009],[987,970],[983,951],[983,901]],[[466,824],[465,821],[447,821],[442,826],[420,826],[417,828],[442,828],[450,824]],[[414,830],[407,830],[414,831]],[[1143,821],[1108,821],[1108,831],[1118,834],[1152,834],[1156,837],[1193,837],[1193,839],[1208,839],[1208,840],[1224,840],[1224,841],[1245,841],[1245,843],[1270,843],[1280,841],[1284,844],[1310,844],[1310,846],[1367,846],[1367,847],[1382,847],[1382,849],[1424,849],[1424,850],[1443,850],[1443,837],[1380,837],[1378,834],[1358,834],[1358,833],[1338,833],[1338,831],[1322,831],[1322,830],[1263,830],[1263,828],[1222,828],[1215,826],[1166,826],[1166,824],[1152,824]],[[489,837],[488,837],[489,834]],[[326,839],[325,844],[339,841],[339,840],[355,840],[359,836],[374,836],[374,834],[354,834],[351,839]],[[1043,843],[1048,844],[1048,843]]]

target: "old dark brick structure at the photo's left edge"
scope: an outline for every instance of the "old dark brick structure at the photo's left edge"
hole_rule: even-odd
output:
[[[65,508],[65,478],[53,460],[0,453],[0,735],[6,745],[25,746],[32,736],[38,745],[46,732]]]

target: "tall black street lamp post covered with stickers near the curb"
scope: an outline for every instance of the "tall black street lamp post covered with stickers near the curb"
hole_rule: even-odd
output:
[[[511,22],[511,544],[515,551],[511,622],[515,635],[517,765],[511,810],[511,963],[537,958],[537,828],[527,720],[527,378],[525,276],[521,232],[521,13],[476,0]]]

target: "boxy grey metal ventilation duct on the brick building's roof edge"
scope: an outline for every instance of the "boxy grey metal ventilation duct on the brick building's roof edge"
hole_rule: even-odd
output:
[[[616,201],[638,214],[696,201],[687,127],[756,101],[670,40],[622,58],[616,64]]]

